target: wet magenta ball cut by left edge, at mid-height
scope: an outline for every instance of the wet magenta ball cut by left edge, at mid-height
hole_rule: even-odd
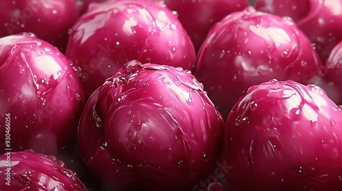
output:
[[[1,153],[10,126],[12,151],[55,155],[77,132],[81,82],[55,46],[32,33],[10,35],[0,39],[0,106]]]

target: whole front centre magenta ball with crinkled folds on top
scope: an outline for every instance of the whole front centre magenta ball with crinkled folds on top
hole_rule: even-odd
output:
[[[88,100],[79,151],[96,177],[133,190],[186,190],[220,160],[224,121],[189,70],[130,61]]]

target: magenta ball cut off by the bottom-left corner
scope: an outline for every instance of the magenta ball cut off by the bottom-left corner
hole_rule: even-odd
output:
[[[75,172],[55,156],[27,149],[0,156],[0,190],[86,191],[87,188]]]

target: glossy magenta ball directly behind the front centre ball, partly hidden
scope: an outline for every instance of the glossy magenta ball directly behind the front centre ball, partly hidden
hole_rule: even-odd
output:
[[[69,35],[66,57],[81,68],[86,96],[124,63],[162,63],[193,70],[194,45],[168,8],[144,0],[93,3]]]

